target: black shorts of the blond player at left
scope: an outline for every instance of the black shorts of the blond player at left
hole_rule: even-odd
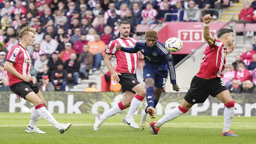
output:
[[[25,97],[29,92],[35,92],[35,93],[39,92],[39,87],[36,86],[36,84],[33,84],[33,82],[30,82],[30,83],[19,82],[17,84],[13,84],[12,86],[10,86],[10,89],[12,92],[21,96],[25,100],[26,100]]]

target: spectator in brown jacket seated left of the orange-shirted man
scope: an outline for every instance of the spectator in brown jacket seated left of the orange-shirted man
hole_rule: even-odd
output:
[[[93,55],[89,52],[89,46],[87,44],[84,44],[83,52],[80,53],[77,61],[80,62],[81,65],[79,72],[84,75],[85,79],[88,79],[87,70],[92,69]]]

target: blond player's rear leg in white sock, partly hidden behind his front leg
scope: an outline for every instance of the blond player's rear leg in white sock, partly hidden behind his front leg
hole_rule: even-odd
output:
[[[46,101],[44,100],[44,97],[42,95],[42,93],[39,91],[36,93],[36,95],[42,100],[43,104],[44,104],[44,107],[47,106],[47,103]],[[45,133],[41,130],[39,130],[39,128],[36,127],[36,124],[38,123],[39,119],[40,119],[40,115],[39,113],[37,112],[36,109],[34,109],[31,113],[31,118],[30,118],[30,121],[29,121],[29,124],[28,124],[28,127],[26,128],[26,131],[25,132],[35,132],[35,133]]]

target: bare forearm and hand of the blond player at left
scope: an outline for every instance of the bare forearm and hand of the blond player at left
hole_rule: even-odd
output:
[[[4,64],[4,69],[6,71],[8,71],[9,73],[11,73],[13,76],[16,76],[18,77],[19,79],[21,79],[22,81],[24,82],[32,82],[33,81],[33,78],[29,75],[27,76],[23,76],[21,75],[14,67],[13,67],[13,64],[12,62],[9,62],[9,61],[5,61],[5,64]]]

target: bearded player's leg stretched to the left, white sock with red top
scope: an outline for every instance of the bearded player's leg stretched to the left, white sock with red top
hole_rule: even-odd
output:
[[[131,91],[126,91],[123,93],[123,99],[121,102],[115,104],[112,108],[110,108],[106,113],[103,115],[96,115],[95,116],[95,123],[93,125],[94,131],[98,131],[100,125],[110,116],[114,116],[118,113],[120,113],[125,108],[129,108],[131,105],[131,101],[133,97],[135,96],[134,93]]]

